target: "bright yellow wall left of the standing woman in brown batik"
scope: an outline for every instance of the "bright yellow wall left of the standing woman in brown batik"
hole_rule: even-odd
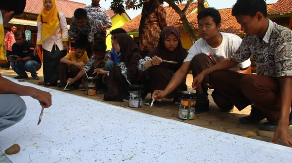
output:
[[[108,29],[108,31],[117,29],[122,27],[124,24],[126,24],[128,22],[128,20],[123,16],[123,15],[116,15],[111,19],[111,23],[112,23],[112,27],[110,29]],[[109,32],[108,32],[109,33]],[[106,44],[107,44],[107,49],[110,50],[111,47],[111,39],[110,39],[111,35],[109,34],[106,40]]]

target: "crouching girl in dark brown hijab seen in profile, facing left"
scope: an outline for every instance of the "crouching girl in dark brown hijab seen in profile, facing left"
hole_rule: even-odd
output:
[[[110,72],[102,71],[99,73],[110,73],[108,77],[109,90],[104,95],[105,101],[128,101],[129,84],[142,84],[146,79],[146,73],[138,70],[138,62],[142,59],[139,48],[133,38],[127,33],[115,34],[116,41],[113,48],[121,52],[120,64],[112,68]],[[148,91],[144,91],[141,98],[145,98]]]

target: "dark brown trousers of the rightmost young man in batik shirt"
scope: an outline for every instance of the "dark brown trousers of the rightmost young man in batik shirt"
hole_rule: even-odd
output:
[[[234,103],[238,110],[255,104],[268,121],[280,116],[280,85],[276,78],[246,75],[228,70],[210,74],[212,86]]]

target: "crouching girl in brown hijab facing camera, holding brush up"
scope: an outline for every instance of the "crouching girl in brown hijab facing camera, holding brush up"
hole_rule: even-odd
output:
[[[138,64],[138,69],[143,71],[148,69],[151,94],[156,89],[164,90],[173,74],[183,64],[186,55],[187,51],[182,46],[179,30],[173,26],[165,27],[161,33],[158,46],[150,51],[148,56],[141,59]],[[165,63],[162,60],[175,61],[178,64]],[[187,86],[184,80],[177,90],[174,90],[165,98],[173,98],[173,102],[179,104],[178,93],[185,90],[187,90]],[[150,98],[145,104],[150,105],[151,102],[152,99]]]

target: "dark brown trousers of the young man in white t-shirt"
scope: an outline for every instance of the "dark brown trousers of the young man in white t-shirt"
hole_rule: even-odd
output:
[[[193,74],[193,78],[195,78],[197,75],[199,75],[203,70],[215,65],[213,61],[210,59],[209,56],[206,54],[198,54],[195,55],[193,60],[191,61],[191,70]],[[197,105],[204,105],[208,103],[208,87],[206,84],[210,84],[210,75],[206,75],[203,82],[201,83],[201,87],[198,87],[196,89],[197,93]],[[214,102],[221,110],[228,110],[233,107],[233,103],[230,99],[228,99],[226,96],[220,94],[220,92],[217,91],[217,89],[214,89],[212,93],[212,98],[214,99]]]

